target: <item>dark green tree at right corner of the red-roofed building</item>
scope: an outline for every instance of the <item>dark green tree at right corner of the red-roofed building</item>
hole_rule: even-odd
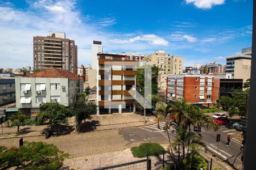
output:
[[[82,97],[75,101],[73,113],[76,117],[76,130],[80,131],[82,121],[90,118],[91,114],[96,114],[96,111],[97,107],[93,102],[85,103]]]

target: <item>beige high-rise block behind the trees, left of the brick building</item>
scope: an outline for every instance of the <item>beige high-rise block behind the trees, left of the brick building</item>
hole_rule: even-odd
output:
[[[183,57],[170,56],[159,50],[150,56],[146,56],[143,60],[151,65],[156,65],[163,74],[182,74],[183,73]]]

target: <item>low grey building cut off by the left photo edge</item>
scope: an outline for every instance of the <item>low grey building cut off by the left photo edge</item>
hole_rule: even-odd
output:
[[[15,102],[15,79],[0,76],[0,106]]]

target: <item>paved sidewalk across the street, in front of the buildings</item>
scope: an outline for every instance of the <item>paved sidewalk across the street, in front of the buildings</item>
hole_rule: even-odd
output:
[[[154,116],[146,116],[146,124],[144,124],[143,116],[135,113],[121,113],[121,114],[105,114],[105,115],[93,115],[91,120],[85,120],[82,123],[81,129],[84,132],[98,131],[98,130],[110,130],[127,128],[131,126],[143,126],[155,123]],[[69,123],[62,125],[63,129],[68,130],[68,133],[75,133],[75,117],[69,118]],[[16,135],[17,128],[3,128],[3,137],[1,138],[16,138],[16,137],[35,137],[44,135],[42,132],[49,128],[49,125],[40,126],[20,126],[20,134]],[[61,129],[59,133],[63,133]],[[64,130],[63,130],[64,131]],[[0,133],[2,131],[0,130]],[[65,132],[64,132],[65,133]]]

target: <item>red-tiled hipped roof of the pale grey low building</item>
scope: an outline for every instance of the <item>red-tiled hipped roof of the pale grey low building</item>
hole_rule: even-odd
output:
[[[79,76],[77,76],[76,74],[73,74],[69,71],[65,71],[62,69],[53,68],[53,67],[40,70],[37,73],[30,74],[25,77],[69,78],[72,80],[79,79]],[[80,77],[80,79],[82,79],[82,77]]]

